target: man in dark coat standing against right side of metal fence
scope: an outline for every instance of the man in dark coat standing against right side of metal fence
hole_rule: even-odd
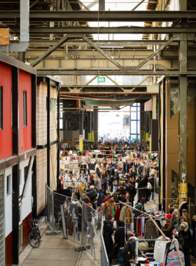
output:
[[[113,221],[114,218],[112,216],[109,216],[109,219],[104,221],[104,243],[108,257],[111,251],[113,251],[113,239],[111,237],[111,235],[113,234]]]

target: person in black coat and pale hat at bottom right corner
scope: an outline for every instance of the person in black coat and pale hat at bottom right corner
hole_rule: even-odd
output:
[[[190,266],[190,249],[192,247],[192,235],[189,230],[188,223],[183,222],[180,225],[181,228],[181,234],[184,239],[184,248],[183,248],[183,253],[184,253],[184,260],[185,260],[185,266]]]

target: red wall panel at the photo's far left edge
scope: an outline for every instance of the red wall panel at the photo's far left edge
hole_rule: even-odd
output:
[[[0,160],[12,155],[11,88],[10,66],[0,62],[0,85],[3,86],[3,130],[0,130]]]

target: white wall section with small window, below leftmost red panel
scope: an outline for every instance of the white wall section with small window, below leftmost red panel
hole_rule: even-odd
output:
[[[11,175],[11,193],[7,195],[7,176]],[[5,170],[4,177],[4,214],[5,214],[5,237],[12,232],[12,167]]]

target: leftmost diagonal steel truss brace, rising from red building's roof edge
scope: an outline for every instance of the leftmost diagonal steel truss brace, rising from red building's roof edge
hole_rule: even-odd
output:
[[[60,41],[58,41],[55,45],[53,45],[50,49],[48,49],[47,51],[45,51],[43,53],[43,55],[41,55],[40,57],[38,57],[34,62],[31,63],[31,66],[36,66],[37,64],[39,64],[41,61],[43,61],[43,59],[45,57],[48,57],[48,55],[50,55],[52,52],[54,52],[55,50],[57,50],[57,48],[59,48],[59,46],[61,46],[63,43],[66,42],[66,40],[68,38],[81,38],[82,35],[78,35],[78,34],[67,34],[66,36],[64,36],[64,38],[62,38]]]

